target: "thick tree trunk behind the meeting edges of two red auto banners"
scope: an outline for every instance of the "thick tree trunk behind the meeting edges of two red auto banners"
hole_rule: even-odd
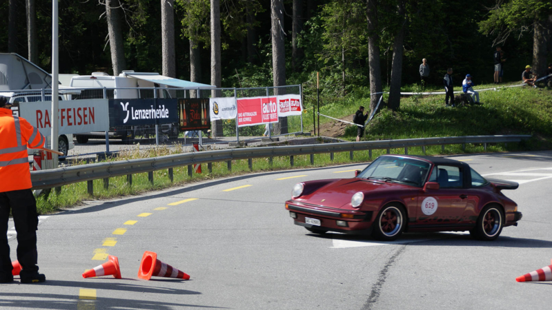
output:
[[[283,0],[270,0],[272,20],[272,67],[274,86],[286,85],[286,51],[284,49],[284,3]],[[283,88],[275,88],[274,94],[284,94]],[[288,133],[288,118],[278,119],[274,126],[275,134]]]

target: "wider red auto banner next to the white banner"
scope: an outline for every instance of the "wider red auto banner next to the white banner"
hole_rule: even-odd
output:
[[[238,127],[277,123],[277,97],[237,99]]]

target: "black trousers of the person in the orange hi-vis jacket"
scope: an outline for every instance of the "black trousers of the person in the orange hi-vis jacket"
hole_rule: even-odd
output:
[[[37,266],[37,229],[39,217],[37,200],[30,189],[0,192],[0,280],[12,276],[12,261],[8,245],[8,219],[12,211],[17,231],[17,260],[21,265],[19,276],[32,277],[39,271]]]

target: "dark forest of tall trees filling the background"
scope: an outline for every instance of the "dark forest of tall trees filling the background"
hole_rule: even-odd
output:
[[[51,8],[2,1],[0,52],[50,72]],[[551,34],[546,0],[60,0],[59,72],[163,72],[219,87],[302,83],[307,108],[319,72],[323,104],[385,89],[397,110],[393,94],[420,83],[422,58],[430,84],[442,85],[451,67],[457,87],[468,73],[492,83],[501,45],[504,81],[520,81],[525,65],[542,75],[552,62]]]

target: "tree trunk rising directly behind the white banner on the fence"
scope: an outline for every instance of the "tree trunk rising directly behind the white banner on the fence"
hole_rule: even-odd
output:
[[[210,20],[210,32],[211,32],[211,85],[221,87],[221,60],[220,60],[220,0],[211,1],[211,20]],[[219,97],[220,90],[213,90],[211,97]],[[223,136],[222,134],[222,122],[214,121],[211,123],[213,130],[213,136]]]

